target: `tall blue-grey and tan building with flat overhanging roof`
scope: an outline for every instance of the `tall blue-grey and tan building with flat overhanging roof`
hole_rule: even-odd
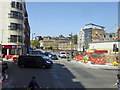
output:
[[[85,33],[85,47],[88,48],[88,43],[98,42],[100,35],[105,34],[105,27],[96,24],[86,24],[84,29]]]

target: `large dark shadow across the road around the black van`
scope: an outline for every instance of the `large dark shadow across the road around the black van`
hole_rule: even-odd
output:
[[[19,68],[17,65],[9,63],[8,74],[8,86],[3,85],[2,90],[27,90],[32,76],[36,76],[36,81],[41,89],[86,90],[79,81],[75,81],[76,77],[71,71],[59,63],[54,63],[53,67],[49,69]]]

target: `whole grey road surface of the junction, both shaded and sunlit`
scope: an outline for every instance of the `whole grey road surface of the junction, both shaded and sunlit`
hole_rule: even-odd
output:
[[[9,80],[3,88],[27,88],[32,76],[41,88],[113,88],[115,71],[90,68],[66,60],[54,60],[50,69],[19,68],[9,62]],[[117,87],[116,87],[117,88]]]

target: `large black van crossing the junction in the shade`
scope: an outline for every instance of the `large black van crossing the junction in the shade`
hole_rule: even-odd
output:
[[[46,68],[46,67],[51,67],[52,64],[53,64],[52,61],[46,60],[46,58],[44,58],[43,56],[24,55],[18,58],[19,67]]]

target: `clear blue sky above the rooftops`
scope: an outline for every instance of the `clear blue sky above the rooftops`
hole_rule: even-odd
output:
[[[85,24],[94,23],[115,32],[117,2],[27,2],[31,33],[41,36],[77,34]]]

